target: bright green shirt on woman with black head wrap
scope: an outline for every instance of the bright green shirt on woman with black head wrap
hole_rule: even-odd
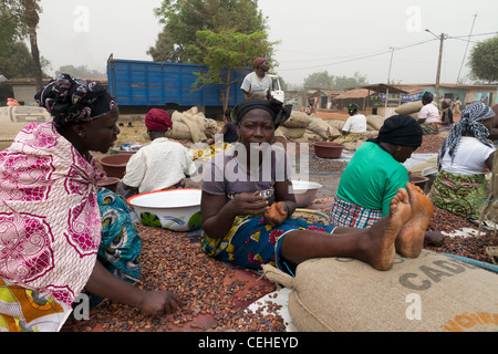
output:
[[[354,153],[342,174],[338,197],[367,209],[390,212],[400,188],[406,188],[408,170],[375,143],[366,142]]]

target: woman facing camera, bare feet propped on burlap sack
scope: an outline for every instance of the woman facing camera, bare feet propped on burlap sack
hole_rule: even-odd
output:
[[[371,229],[335,228],[292,217],[290,157],[270,145],[290,113],[291,107],[268,100],[247,100],[235,107],[239,143],[215,155],[203,174],[203,250],[255,270],[272,264],[293,273],[300,262],[320,257],[350,257],[387,270],[401,229],[417,216],[402,251],[419,253],[421,225],[430,215],[424,211],[428,199],[413,185],[393,196],[390,214]]]

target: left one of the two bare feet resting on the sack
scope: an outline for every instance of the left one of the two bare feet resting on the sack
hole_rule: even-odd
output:
[[[412,206],[408,194],[400,188],[397,195],[391,200],[390,215],[382,218],[369,230],[371,242],[369,244],[367,262],[377,270],[390,270],[396,254],[394,242],[400,230],[412,218]]]

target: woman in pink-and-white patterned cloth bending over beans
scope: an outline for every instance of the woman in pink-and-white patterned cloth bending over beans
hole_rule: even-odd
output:
[[[97,191],[105,174],[91,152],[120,134],[115,102],[66,74],[35,100],[53,122],[28,125],[0,153],[0,331],[59,331],[83,292],[146,313],[177,309],[176,295],[132,284],[139,237],[124,204]]]

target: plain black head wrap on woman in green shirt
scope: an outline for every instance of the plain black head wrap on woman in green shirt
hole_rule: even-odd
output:
[[[384,121],[376,138],[372,143],[390,143],[400,146],[419,147],[423,132],[421,125],[409,115],[393,115]]]

